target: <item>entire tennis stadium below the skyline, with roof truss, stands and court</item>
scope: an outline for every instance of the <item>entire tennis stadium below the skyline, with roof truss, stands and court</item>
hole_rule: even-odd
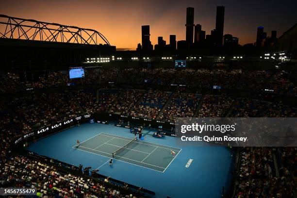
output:
[[[116,51],[95,30],[0,18],[0,187],[44,198],[296,196],[296,147],[183,147],[175,133],[177,117],[296,117],[296,49]]]

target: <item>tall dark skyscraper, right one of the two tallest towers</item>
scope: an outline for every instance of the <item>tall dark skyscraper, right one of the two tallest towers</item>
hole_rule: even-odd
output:
[[[216,19],[215,19],[215,37],[214,43],[218,46],[223,44],[223,34],[224,34],[224,18],[225,18],[225,7],[216,7]]]

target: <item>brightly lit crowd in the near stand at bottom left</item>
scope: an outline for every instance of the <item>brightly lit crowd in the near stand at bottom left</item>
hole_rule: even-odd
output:
[[[107,185],[108,179],[96,182],[23,156],[1,159],[0,172],[1,186],[35,188],[42,198],[136,198]]]

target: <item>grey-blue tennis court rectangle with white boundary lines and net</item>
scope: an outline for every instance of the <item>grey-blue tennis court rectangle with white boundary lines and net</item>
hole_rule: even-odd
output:
[[[133,138],[104,132],[99,133],[72,148],[109,158],[112,158],[114,153],[115,160],[160,172],[165,172],[166,168],[181,152],[181,148],[168,147],[142,140],[134,140]],[[176,152],[175,156],[170,154],[170,150]]]

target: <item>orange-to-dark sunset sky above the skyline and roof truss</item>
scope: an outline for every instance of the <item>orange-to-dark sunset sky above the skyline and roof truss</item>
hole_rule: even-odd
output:
[[[0,14],[95,29],[117,49],[135,49],[141,25],[150,25],[153,45],[158,36],[168,43],[169,34],[184,40],[186,7],[210,34],[217,5],[225,6],[224,34],[240,44],[255,42],[258,26],[280,36],[297,23],[297,0],[1,0]]]

